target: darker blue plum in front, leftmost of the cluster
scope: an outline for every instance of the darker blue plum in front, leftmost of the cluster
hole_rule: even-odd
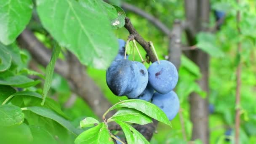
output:
[[[113,61],[106,72],[107,85],[117,96],[131,93],[135,78],[134,63],[128,59]]]

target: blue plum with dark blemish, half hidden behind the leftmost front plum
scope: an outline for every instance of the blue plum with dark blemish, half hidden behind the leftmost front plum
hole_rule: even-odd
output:
[[[126,95],[130,99],[138,97],[147,87],[149,80],[147,68],[141,62],[133,61],[133,70],[135,73],[135,81],[132,82],[133,91]]]

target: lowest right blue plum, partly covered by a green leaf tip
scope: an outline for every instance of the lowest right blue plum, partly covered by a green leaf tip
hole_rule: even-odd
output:
[[[162,109],[169,120],[172,120],[179,112],[179,98],[174,91],[166,94],[155,92],[151,102]]]

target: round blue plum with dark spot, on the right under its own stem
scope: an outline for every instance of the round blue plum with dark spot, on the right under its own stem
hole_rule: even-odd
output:
[[[178,82],[178,71],[176,67],[166,60],[153,62],[148,69],[149,83],[155,91],[166,94],[175,88]]]

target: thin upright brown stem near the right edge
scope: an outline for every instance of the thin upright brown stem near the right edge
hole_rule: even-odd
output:
[[[237,0],[237,4],[240,3],[240,0]],[[237,32],[240,35],[241,29],[239,23],[241,21],[240,11],[237,11]],[[237,53],[240,54],[242,51],[242,45],[239,41],[237,43]],[[240,128],[240,88],[241,88],[241,71],[242,71],[241,62],[237,66],[237,87],[235,93],[235,144],[239,144],[239,128]]]

